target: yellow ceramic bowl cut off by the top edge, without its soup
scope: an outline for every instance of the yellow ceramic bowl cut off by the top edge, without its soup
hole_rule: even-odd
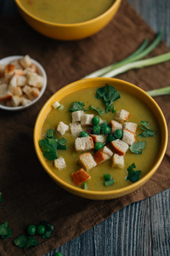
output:
[[[106,26],[116,14],[121,1],[122,0],[116,0],[110,9],[108,9],[103,15],[99,15],[97,18],[75,24],[59,24],[41,20],[36,16],[31,15],[31,13],[22,6],[20,0],[15,0],[15,3],[19,8],[22,17],[30,26],[37,30],[37,32],[40,32],[49,38],[59,40],[77,40],[87,38],[94,33],[99,32],[100,29]]]

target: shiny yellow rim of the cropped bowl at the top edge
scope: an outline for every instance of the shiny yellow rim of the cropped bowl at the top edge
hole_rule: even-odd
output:
[[[98,20],[104,18],[106,15],[110,14],[112,12],[112,10],[115,9],[116,5],[117,4],[119,5],[122,2],[122,0],[115,0],[115,2],[111,5],[111,7],[109,9],[107,9],[103,14],[97,16],[94,19],[82,21],[82,22],[78,22],[78,23],[71,23],[71,24],[65,23],[64,24],[64,23],[54,23],[54,22],[51,22],[48,20],[42,20],[35,15],[31,15],[31,13],[29,11],[27,11],[27,9],[22,6],[22,4],[20,3],[20,0],[14,0],[14,1],[18,5],[18,7],[20,7],[20,9],[24,13],[26,13],[26,15],[30,16],[32,19],[42,22],[43,24],[46,24],[48,26],[61,26],[61,27],[88,26],[90,23],[94,23],[95,21],[98,21]]]

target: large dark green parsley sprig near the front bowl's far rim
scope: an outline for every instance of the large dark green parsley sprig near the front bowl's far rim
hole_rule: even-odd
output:
[[[115,90],[115,87],[106,84],[104,87],[100,87],[96,91],[96,98],[102,99],[105,103],[105,113],[112,111],[115,112],[114,106],[112,102],[116,101],[116,99],[120,98],[118,90]]]

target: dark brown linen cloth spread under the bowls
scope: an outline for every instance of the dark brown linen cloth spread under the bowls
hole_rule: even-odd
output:
[[[122,1],[116,17],[101,32],[75,42],[45,38],[31,29],[20,16],[4,17],[0,22],[0,58],[8,55],[31,55],[47,71],[48,88],[41,100],[26,111],[0,110],[0,224],[8,221],[13,237],[0,242],[0,255],[40,256],[81,235],[108,218],[113,212],[134,201],[144,200],[170,186],[170,148],[156,174],[142,188],[130,195],[111,201],[90,201],[71,195],[54,183],[42,169],[33,146],[33,128],[42,105],[65,84],[81,79],[99,67],[122,60],[143,42],[155,38],[149,26],[134,9]],[[168,51],[161,42],[150,54]],[[169,85],[170,61],[155,67],[145,67],[118,76],[151,90]],[[156,98],[167,124],[170,113],[169,96]],[[45,219],[54,224],[53,235],[38,238],[40,245],[23,251],[13,240],[24,235],[29,224]]]

